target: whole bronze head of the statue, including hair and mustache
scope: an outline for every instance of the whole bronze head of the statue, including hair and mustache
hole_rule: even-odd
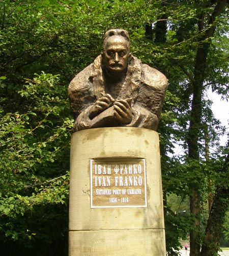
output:
[[[128,65],[130,40],[125,30],[109,30],[103,39],[103,64],[110,74],[123,73]]]

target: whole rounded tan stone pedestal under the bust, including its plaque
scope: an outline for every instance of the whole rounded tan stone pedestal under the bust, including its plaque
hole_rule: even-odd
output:
[[[158,133],[72,134],[69,256],[165,256]]]

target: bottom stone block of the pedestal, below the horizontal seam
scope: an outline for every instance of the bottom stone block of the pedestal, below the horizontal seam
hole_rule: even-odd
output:
[[[163,230],[70,232],[71,256],[165,256]]]

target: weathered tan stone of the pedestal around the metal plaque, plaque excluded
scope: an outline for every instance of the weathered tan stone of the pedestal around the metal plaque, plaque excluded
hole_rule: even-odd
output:
[[[146,161],[147,207],[91,208],[90,159],[135,158]],[[70,256],[165,255],[157,132],[112,127],[72,134],[69,230]]]

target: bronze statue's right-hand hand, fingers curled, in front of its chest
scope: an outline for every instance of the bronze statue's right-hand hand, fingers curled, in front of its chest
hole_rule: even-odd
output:
[[[131,109],[131,98],[125,100],[117,100],[114,104],[115,108],[115,117],[116,119],[123,123],[128,124],[132,121],[133,114]]]

